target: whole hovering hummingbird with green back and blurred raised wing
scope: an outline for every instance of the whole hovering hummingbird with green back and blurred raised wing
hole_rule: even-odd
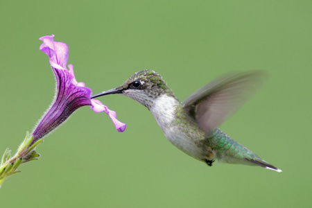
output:
[[[263,71],[230,73],[198,89],[182,103],[159,73],[146,69],[92,98],[121,94],[141,103],[152,112],[171,144],[208,166],[218,159],[281,172],[218,128],[256,92],[264,78]]]

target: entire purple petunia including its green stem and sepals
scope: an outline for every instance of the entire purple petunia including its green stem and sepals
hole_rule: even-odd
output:
[[[119,132],[125,130],[126,125],[116,119],[116,112],[109,110],[100,101],[91,99],[92,90],[85,87],[85,83],[77,82],[73,74],[73,65],[69,64],[69,69],[66,67],[69,52],[67,44],[54,42],[53,37],[54,35],[40,37],[40,40],[43,41],[40,50],[49,56],[55,74],[54,101],[37,123],[33,133],[30,136],[28,132],[26,133],[17,153],[11,157],[11,150],[7,148],[4,151],[0,161],[0,188],[8,176],[21,172],[17,169],[20,164],[40,157],[35,149],[43,141],[42,137],[58,128],[79,107],[90,105],[94,112],[106,112]]]

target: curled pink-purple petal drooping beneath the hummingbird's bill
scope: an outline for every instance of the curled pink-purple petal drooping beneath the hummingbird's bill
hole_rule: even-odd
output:
[[[95,99],[91,99],[91,104],[92,105],[90,107],[94,112],[105,112],[108,116],[110,116],[110,119],[112,119],[116,130],[118,130],[119,132],[123,132],[125,130],[127,124],[117,120],[116,112],[114,112],[113,110],[109,110],[106,105],[103,105],[103,103],[101,103],[101,101]]]

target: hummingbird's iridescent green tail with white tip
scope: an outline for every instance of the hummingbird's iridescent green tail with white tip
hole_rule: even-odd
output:
[[[251,150],[248,150],[248,148],[245,148],[231,137],[225,135],[225,133],[218,128],[214,129],[209,140],[211,141],[212,148],[219,162],[251,166],[258,165],[272,171],[281,172],[279,168],[264,161],[261,157],[252,153]]]

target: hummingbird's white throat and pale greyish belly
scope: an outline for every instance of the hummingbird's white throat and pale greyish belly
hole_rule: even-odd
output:
[[[150,112],[155,116],[159,127],[171,144],[195,159],[211,160],[214,153],[207,146],[204,130],[199,128],[198,124],[190,117],[187,124],[179,122],[182,121],[181,119],[185,119],[177,118],[179,109],[181,110],[181,105],[178,101],[172,96],[164,94],[154,101]]]

